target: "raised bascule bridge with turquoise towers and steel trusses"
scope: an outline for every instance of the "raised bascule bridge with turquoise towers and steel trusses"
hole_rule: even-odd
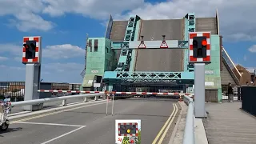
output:
[[[224,53],[218,13],[212,18],[189,13],[180,19],[154,20],[134,15],[127,21],[114,21],[110,16],[105,37],[87,40],[82,89],[194,93],[190,32],[210,32],[206,95],[212,102],[220,101]]]

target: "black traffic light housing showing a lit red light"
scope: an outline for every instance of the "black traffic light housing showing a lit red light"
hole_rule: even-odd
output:
[[[206,37],[194,37],[193,38],[193,57],[194,58],[206,58]]]

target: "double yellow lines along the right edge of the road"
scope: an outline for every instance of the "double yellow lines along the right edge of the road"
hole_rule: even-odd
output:
[[[170,114],[170,117],[167,119],[165,125],[162,126],[162,129],[159,131],[157,137],[154,138],[154,141],[152,142],[152,144],[156,144],[157,142],[158,142],[158,144],[162,144],[163,139],[166,137],[166,133],[170,129],[170,126],[174,122],[174,118],[175,118],[176,114],[178,113],[178,106],[174,103],[173,103],[173,106],[174,106],[173,112]],[[165,131],[163,132],[163,130],[165,130]],[[162,135],[162,137],[158,141],[158,138],[161,135]]]

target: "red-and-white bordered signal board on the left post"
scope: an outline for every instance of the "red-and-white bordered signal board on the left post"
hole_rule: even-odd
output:
[[[41,62],[41,37],[24,37],[22,50],[22,63],[37,63]]]

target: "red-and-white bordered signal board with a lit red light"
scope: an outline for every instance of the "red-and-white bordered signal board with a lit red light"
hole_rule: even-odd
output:
[[[190,32],[189,39],[189,62],[210,63],[210,32]]]

